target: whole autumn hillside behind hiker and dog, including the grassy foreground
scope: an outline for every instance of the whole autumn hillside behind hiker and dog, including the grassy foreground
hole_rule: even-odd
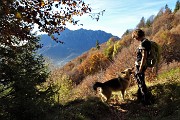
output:
[[[136,102],[137,85],[131,80],[126,101],[112,98],[111,104],[102,103],[92,86],[104,82],[127,67],[134,66],[138,43],[126,31],[121,40],[110,38],[100,45],[73,59],[62,68],[52,71],[51,80],[59,86],[57,101],[62,104],[61,119],[88,120],[178,120],[180,118],[180,10],[165,10],[155,16],[151,24],[139,26],[148,39],[156,41],[161,48],[157,73],[146,71],[146,81],[153,94],[154,103],[143,106]]]

